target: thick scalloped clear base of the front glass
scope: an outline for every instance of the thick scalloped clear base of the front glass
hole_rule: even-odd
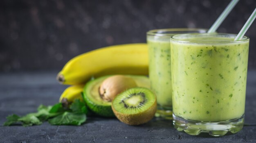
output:
[[[178,131],[184,130],[187,134],[197,136],[201,132],[207,132],[213,137],[220,137],[227,132],[236,133],[242,130],[244,124],[244,115],[237,119],[232,119],[229,121],[216,121],[216,122],[206,122],[206,121],[193,121],[183,119],[181,117],[175,116],[173,114],[173,126]]]

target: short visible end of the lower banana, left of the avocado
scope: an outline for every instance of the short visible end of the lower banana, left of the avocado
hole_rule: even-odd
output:
[[[83,92],[84,85],[73,85],[67,87],[65,91],[61,94],[59,102],[73,102],[75,99],[83,100],[81,92]],[[63,101],[63,99],[65,99]]]

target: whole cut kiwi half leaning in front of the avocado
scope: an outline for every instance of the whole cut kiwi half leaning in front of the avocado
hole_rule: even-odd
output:
[[[154,117],[157,111],[156,101],[152,91],[135,87],[117,95],[112,101],[112,110],[115,116],[125,124],[144,124]]]

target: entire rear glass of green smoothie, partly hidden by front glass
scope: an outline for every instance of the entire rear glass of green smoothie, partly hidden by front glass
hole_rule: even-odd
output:
[[[198,28],[170,28],[147,32],[150,87],[157,96],[157,117],[172,118],[171,36],[206,31]]]

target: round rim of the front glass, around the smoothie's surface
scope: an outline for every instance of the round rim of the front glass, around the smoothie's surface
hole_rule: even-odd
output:
[[[177,41],[177,42],[182,42],[182,43],[239,43],[239,42],[245,42],[245,41],[249,41],[249,37],[247,36],[243,36],[243,39],[241,40],[227,40],[227,41],[198,41],[198,40],[186,40],[186,38],[184,39],[178,39],[178,37],[187,37],[188,35],[200,35],[200,36],[205,36],[205,35],[226,35],[229,37],[236,37],[237,34],[233,34],[233,33],[188,33],[188,34],[177,34],[177,35],[173,35],[170,39],[171,41]]]

